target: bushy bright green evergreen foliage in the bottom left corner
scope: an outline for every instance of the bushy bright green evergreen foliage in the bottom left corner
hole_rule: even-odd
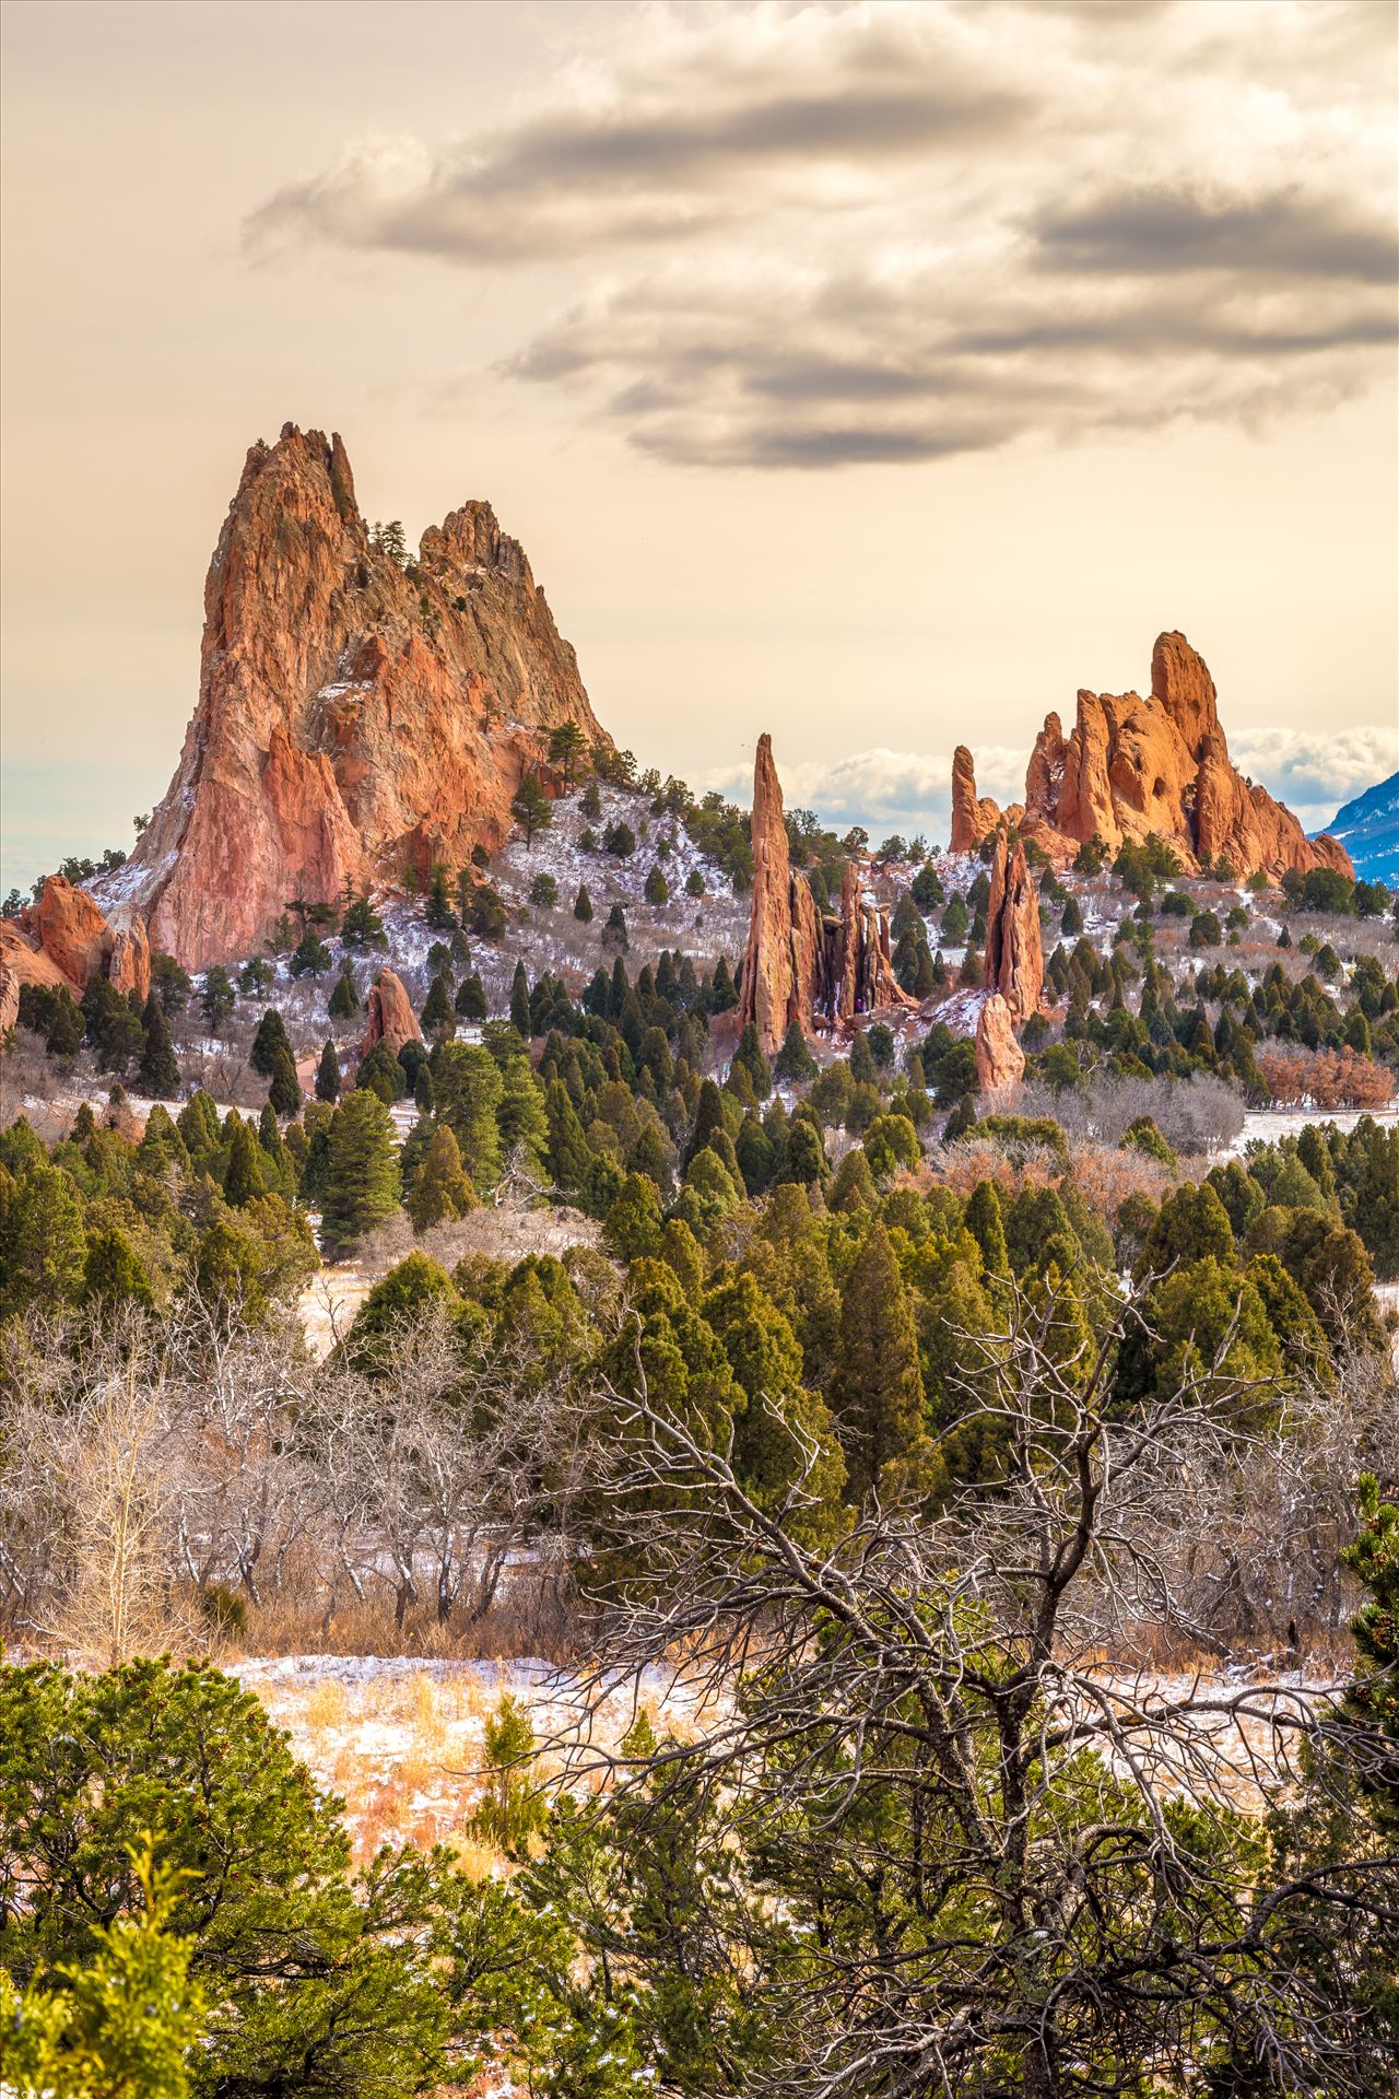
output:
[[[388,2099],[447,2076],[440,1868],[382,1853],[357,1883],[336,1803],[218,1671],[2,1671],[0,1824],[10,1977],[94,1977],[96,2036],[136,2051],[166,2091],[180,2091],[172,2047],[195,2099]],[[143,1944],[153,1891],[162,1929]],[[180,1960],[193,1990],[166,2021]],[[149,1996],[126,1990],[132,1975]],[[162,2084],[96,2089],[136,2099]]]

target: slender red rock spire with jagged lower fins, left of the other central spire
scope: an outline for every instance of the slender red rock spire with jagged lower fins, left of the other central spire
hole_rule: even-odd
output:
[[[772,1056],[797,1020],[803,1033],[849,1026],[862,1014],[917,1008],[894,976],[889,919],[845,863],[841,909],[816,909],[812,886],[791,865],[782,787],[772,737],[757,739],[753,766],[753,903],[738,987],[738,1024],[757,1029]]]

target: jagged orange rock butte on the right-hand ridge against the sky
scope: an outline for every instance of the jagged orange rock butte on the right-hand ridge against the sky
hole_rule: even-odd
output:
[[[1000,821],[980,800],[971,754],[952,758],[952,850],[969,852]],[[1005,810],[1024,838],[1057,863],[1097,838],[1116,852],[1156,833],[1196,873],[1227,861],[1237,875],[1277,879],[1296,867],[1336,867],[1353,875],[1334,838],[1307,838],[1265,787],[1229,762],[1214,680],[1183,634],[1160,634],[1152,651],[1152,691],[1078,695],[1074,728],[1045,716],[1026,768],[1024,806]]]

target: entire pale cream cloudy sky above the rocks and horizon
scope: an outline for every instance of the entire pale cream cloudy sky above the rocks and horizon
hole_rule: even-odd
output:
[[[491,497],[692,783],[946,838],[1183,628],[1321,823],[1399,764],[1397,21],[6,0],[6,886],[164,791],[287,418]]]

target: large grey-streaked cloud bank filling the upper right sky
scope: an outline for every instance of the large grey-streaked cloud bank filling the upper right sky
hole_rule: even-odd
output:
[[[1393,374],[1389,8],[648,6],[610,34],[491,130],[350,143],[250,241],[547,264],[566,302],[508,369],[703,466],[1256,424]]]

